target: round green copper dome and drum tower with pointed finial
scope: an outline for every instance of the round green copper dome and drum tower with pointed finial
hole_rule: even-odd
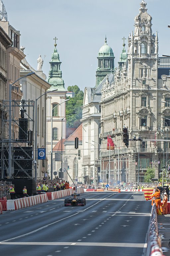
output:
[[[97,58],[96,87],[102,82],[106,75],[111,72],[111,69],[114,69],[114,53],[112,48],[107,44],[106,38],[105,44],[100,48]]]

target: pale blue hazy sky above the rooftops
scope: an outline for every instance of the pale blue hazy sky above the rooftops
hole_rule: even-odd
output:
[[[105,42],[113,49],[115,66],[122,52],[122,38],[128,39],[134,17],[142,0],[3,0],[8,21],[20,30],[20,45],[30,65],[37,69],[37,59],[46,55],[42,66],[48,78],[49,61],[56,36],[65,88],[78,85],[94,87],[97,56]],[[158,31],[159,56],[170,54],[170,0],[146,0],[152,16],[152,32]],[[127,43],[126,40],[126,50]]]

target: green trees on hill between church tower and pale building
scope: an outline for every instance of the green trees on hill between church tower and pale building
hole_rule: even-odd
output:
[[[84,93],[83,91],[80,91],[80,88],[77,85],[68,86],[67,91],[75,93],[73,98],[67,97],[67,99],[70,99],[66,102],[67,127],[78,127],[80,125],[80,119],[82,118],[81,107],[83,106]],[[76,114],[72,115],[73,113]]]

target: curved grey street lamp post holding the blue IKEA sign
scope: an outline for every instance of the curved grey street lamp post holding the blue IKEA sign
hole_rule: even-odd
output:
[[[37,157],[37,155],[38,155],[38,152],[37,152],[38,151],[38,149],[37,149],[37,101],[38,101],[38,99],[40,99],[42,96],[46,95],[47,93],[55,92],[57,90],[58,89],[53,90],[53,91],[47,91],[36,99],[36,105],[35,105],[35,119],[36,119],[36,121],[35,121],[35,130],[36,130],[35,131],[35,181],[36,182],[37,182],[37,159],[38,159],[38,157]]]

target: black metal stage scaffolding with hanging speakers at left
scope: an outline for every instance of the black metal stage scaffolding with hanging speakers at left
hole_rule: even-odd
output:
[[[34,109],[33,100],[3,101],[0,140],[0,178],[33,178]],[[11,111],[9,106],[11,105]],[[11,112],[11,113],[10,113]],[[19,115],[21,113],[21,115]],[[19,117],[18,117],[19,116]],[[11,122],[11,137],[9,135]],[[10,154],[10,146],[11,154]],[[11,161],[11,172],[8,170]]]

